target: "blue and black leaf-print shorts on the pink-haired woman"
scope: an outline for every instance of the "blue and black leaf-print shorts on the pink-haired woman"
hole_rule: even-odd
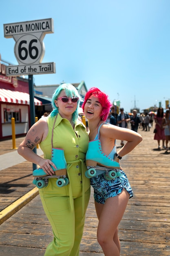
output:
[[[121,176],[113,180],[106,180],[104,173],[91,178],[91,186],[94,189],[95,202],[104,204],[107,198],[119,195],[123,189],[133,196],[133,191],[124,171],[120,171]]]

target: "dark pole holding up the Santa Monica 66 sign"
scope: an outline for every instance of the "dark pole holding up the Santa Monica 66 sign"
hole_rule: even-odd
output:
[[[34,89],[33,89],[33,75],[29,75],[29,98],[30,98],[30,121],[31,126],[35,124],[35,106],[34,106]],[[36,147],[33,149],[33,152],[36,154]],[[37,165],[33,164],[33,170],[37,169]]]

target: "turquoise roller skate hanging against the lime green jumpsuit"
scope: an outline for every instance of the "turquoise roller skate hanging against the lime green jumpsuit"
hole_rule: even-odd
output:
[[[57,167],[57,170],[53,168],[55,171],[55,175],[46,174],[42,168],[35,169],[33,171],[33,184],[35,184],[39,189],[44,188],[44,186],[48,185],[48,179],[57,178],[56,185],[59,187],[66,186],[69,183],[67,176],[67,164],[66,159],[64,157],[64,149],[61,148],[52,148],[51,161]]]

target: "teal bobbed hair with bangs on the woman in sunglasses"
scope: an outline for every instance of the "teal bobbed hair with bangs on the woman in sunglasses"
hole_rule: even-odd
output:
[[[51,112],[50,116],[54,117],[58,114],[58,107],[55,106],[55,100],[58,98],[58,96],[62,90],[65,91],[66,96],[68,98],[74,98],[74,97],[79,98],[77,101],[77,108],[76,108],[75,112],[72,114],[72,122],[75,124],[75,122],[77,121],[78,115],[79,115],[79,103],[80,103],[80,101],[82,101],[82,99],[79,96],[77,89],[71,83],[61,83],[59,85],[59,87],[55,90],[55,92],[53,93],[52,101],[51,101],[53,111]]]

